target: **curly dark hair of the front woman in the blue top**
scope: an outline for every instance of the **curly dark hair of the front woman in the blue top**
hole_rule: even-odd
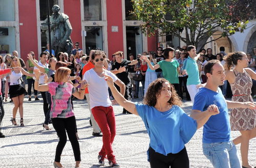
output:
[[[146,96],[143,99],[143,103],[149,106],[155,106],[157,103],[157,98],[160,95],[161,89],[163,87],[163,83],[168,82],[170,84],[170,91],[172,92],[172,96],[170,97],[169,101],[167,102],[170,105],[182,105],[182,101],[178,96],[174,86],[164,78],[158,78],[154,80],[147,88]]]

